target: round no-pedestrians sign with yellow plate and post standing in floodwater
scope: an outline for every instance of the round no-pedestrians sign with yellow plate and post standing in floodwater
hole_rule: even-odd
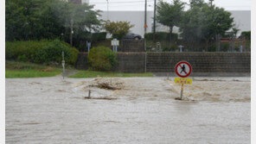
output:
[[[192,67],[190,66],[189,62],[180,61],[176,64],[175,71],[176,71],[176,74],[180,77],[180,78],[175,78],[175,83],[182,85],[181,86],[181,97],[180,97],[180,100],[182,100],[184,85],[192,84],[192,79],[186,78],[186,77],[189,77],[190,73],[192,72]]]

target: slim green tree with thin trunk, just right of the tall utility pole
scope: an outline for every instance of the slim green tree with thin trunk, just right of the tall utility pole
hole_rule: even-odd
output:
[[[179,26],[182,21],[184,3],[180,0],[173,0],[172,3],[160,1],[157,3],[157,22],[170,28],[171,34],[174,26]]]

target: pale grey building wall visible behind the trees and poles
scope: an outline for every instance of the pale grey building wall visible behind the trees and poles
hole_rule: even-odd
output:
[[[234,17],[234,22],[237,24],[240,29],[238,35],[242,31],[251,30],[251,11],[250,10],[241,10],[241,11],[229,11]],[[135,26],[131,28],[131,32],[135,34],[140,34],[144,36],[144,11],[103,11],[100,13],[101,19],[110,20],[110,21],[127,21],[131,22]],[[153,11],[147,12],[147,32],[152,32],[153,27]],[[169,32],[169,28],[159,26],[157,24],[156,31],[166,31]],[[174,33],[178,33],[178,28],[173,29]]]

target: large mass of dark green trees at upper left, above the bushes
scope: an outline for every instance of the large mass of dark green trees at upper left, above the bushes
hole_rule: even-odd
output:
[[[6,0],[6,41],[61,38],[69,42],[71,20],[74,43],[86,41],[99,29],[93,5],[61,0]]]

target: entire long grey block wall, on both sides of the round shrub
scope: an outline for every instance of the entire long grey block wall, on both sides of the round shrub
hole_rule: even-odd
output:
[[[87,69],[87,53],[80,53],[77,68]],[[146,59],[145,59],[146,57]],[[175,72],[176,63],[186,60],[192,72],[251,72],[251,53],[147,53],[119,52],[115,72]]]

